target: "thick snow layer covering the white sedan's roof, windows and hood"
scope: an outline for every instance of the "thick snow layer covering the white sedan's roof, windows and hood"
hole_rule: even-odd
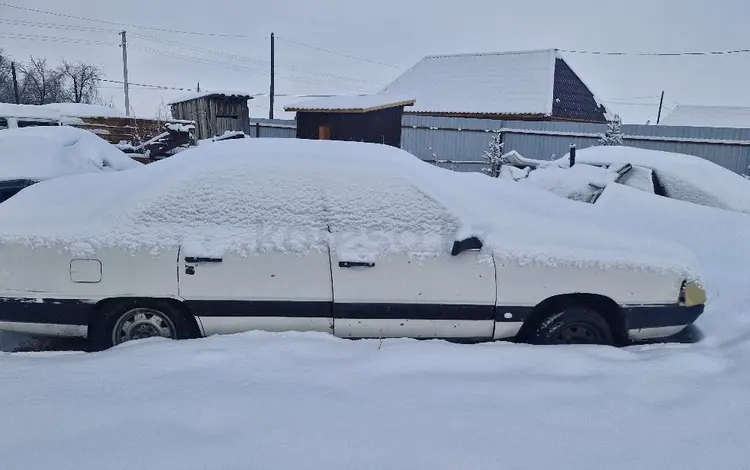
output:
[[[131,171],[37,184],[0,205],[0,240],[300,253],[326,249],[332,228],[354,241],[347,249],[380,254],[445,253],[454,240],[478,236],[501,263],[695,276],[689,250],[619,237],[616,223],[600,215],[589,205],[440,169],[384,145],[242,139]]]

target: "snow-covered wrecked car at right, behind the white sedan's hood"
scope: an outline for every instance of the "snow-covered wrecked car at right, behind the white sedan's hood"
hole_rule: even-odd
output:
[[[750,214],[750,181],[693,155],[597,146],[544,162],[509,154],[506,177],[569,199],[596,202],[608,183],[703,206]],[[521,170],[520,168],[528,168]]]

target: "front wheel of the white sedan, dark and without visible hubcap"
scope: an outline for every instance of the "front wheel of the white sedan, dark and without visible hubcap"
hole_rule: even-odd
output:
[[[594,310],[570,307],[545,317],[530,333],[532,344],[614,344],[612,329]]]

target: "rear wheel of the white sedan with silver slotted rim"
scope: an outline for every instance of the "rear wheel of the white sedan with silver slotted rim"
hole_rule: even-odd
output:
[[[168,302],[126,300],[105,305],[99,314],[91,328],[91,347],[95,351],[137,339],[192,336],[187,316]]]

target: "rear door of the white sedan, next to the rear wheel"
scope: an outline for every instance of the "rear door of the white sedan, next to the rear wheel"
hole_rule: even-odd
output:
[[[253,182],[247,188],[225,185],[223,207],[198,207],[200,198],[185,202],[186,212],[199,220],[191,220],[177,260],[180,297],[206,335],[333,333],[327,231],[316,176],[269,166],[247,178]],[[213,193],[223,189],[221,182],[211,182]],[[215,199],[216,194],[212,204]]]

